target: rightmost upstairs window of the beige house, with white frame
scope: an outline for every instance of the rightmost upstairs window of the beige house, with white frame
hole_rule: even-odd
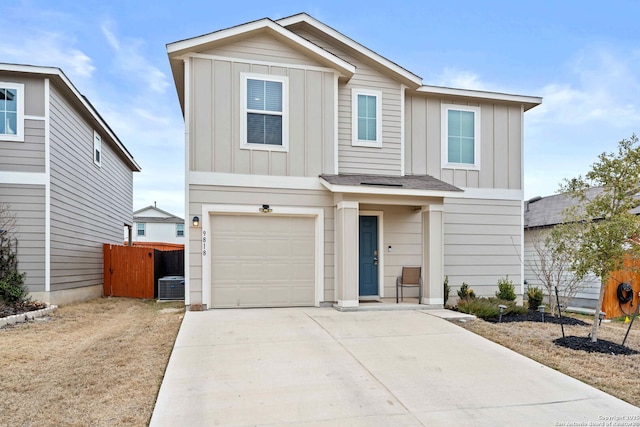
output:
[[[442,108],[442,160],[444,166],[480,167],[480,108],[444,105]]]

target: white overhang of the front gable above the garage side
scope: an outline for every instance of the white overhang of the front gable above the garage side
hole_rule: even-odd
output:
[[[273,20],[263,18],[258,21],[167,44],[167,54],[169,55],[171,72],[173,74],[174,82],[176,83],[178,98],[180,99],[180,105],[182,106],[183,111],[184,59],[187,58],[190,53],[213,49],[217,46],[242,40],[260,33],[267,33],[283,43],[300,50],[302,53],[318,61],[320,64],[336,70],[341,77],[344,77],[347,80],[353,77],[356,72],[356,67],[354,65],[300,37],[296,33],[287,30]]]

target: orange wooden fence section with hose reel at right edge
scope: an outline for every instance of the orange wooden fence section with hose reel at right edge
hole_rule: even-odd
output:
[[[602,311],[607,313],[607,319],[631,315],[640,304],[638,292],[640,292],[640,260],[628,257],[624,260],[624,269],[611,273],[604,290]],[[631,285],[633,298],[631,301],[621,303],[618,300],[618,286],[621,283]]]

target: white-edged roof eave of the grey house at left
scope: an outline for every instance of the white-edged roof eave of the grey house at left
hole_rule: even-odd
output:
[[[96,110],[91,102],[89,102],[89,100],[78,91],[73,83],[71,83],[71,80],[69,80],[60,68],[0,63],[0,72],[7,72],[16,75],[35,75],[51,79],[56,86],[62,90],[63,94],[71,100],[78,109],[80,109],[81,113],[83,113],[94,126],[98,127],[104,136],[108,137],[110,145],[114,148],[116,154],[124,160],[125,164],[132,171],[140,172],[141,168],[138,163],[136,163],[129,150],[127,150],[115,132],[109,127],[102,116],[100,116],[98,110]],[[103,142],[105,141],[103,140]]]

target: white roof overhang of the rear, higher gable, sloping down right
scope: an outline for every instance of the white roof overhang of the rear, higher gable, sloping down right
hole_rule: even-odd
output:
[[[360,43],[350,39],[339,31],[334,30],[330,26],[318,21],[317,19],[309,16],[306,13],[299,13],[293,16],[289,16],[287,18],[278,19],[276,21],[278,24],[283,27],[292,27],[298,24],[307,24],[310,27],[314,28],[316,31],[319,31],[332,39],[338,41],[344,46],[347,46],[351,50],[358,52],[361,55],[364,55],[367,59],[371,60],[373,63],[378,66],[388,70],[395,78],[397,78],[402,84],[415,89],[422,85],[422,78],[413,74],[412,72],[402,68],[395,62],[388,60],[387,58],[375,53],[371,49],[366,48]]]

